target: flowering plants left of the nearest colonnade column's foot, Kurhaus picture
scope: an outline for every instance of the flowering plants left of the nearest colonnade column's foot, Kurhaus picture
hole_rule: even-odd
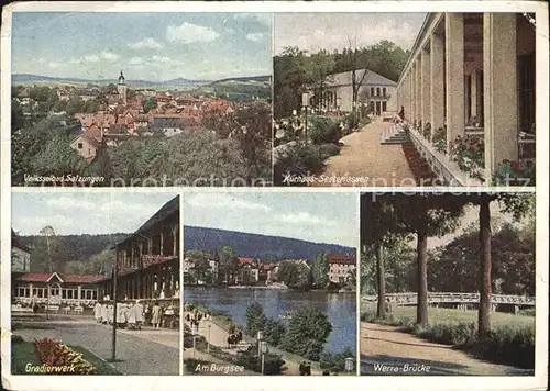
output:
[[[483,139],[458,136],[451,144],[452,160],[472,178],[483,180],[485,165]]]

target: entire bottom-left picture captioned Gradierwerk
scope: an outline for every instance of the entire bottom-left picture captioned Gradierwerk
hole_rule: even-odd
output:
[[[12,193],[12,375],[182,373],[179,203]]]

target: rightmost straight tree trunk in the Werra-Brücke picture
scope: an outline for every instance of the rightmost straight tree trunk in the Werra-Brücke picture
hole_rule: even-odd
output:
[[[477,335],[485,336],[491,331],[491,199],[481,196],[480,202],[480,310],[477,313]]]

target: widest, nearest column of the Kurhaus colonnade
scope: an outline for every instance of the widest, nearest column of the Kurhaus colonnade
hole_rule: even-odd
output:
[[[485,170],[517,158],[516,14],[483,14]],[[490,176],[487,178],[491,178]]]

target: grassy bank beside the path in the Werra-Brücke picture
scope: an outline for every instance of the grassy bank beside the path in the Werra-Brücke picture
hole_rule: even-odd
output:
[[[375,311],[364,311],[362,322],[403,327],[416,336],[468,351],[474,357],[525,369],[535,368],[535,317],[494,312],[493,331],[477,337],[477,312],[430,309],[430,325],[418,326],[416,308],[397,308],[384,319]]]

